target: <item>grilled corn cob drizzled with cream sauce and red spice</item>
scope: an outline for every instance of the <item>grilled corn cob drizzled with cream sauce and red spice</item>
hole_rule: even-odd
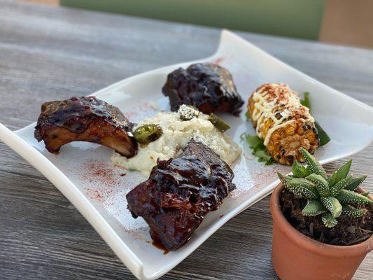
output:
[[[300,104],[297,92],[288,85],[267,83],[248,99],[248,113],[256,133],[272,158],[283,165],[304,162],[301,147],[313,154],[319,145],[318,132],[309,109]]]

